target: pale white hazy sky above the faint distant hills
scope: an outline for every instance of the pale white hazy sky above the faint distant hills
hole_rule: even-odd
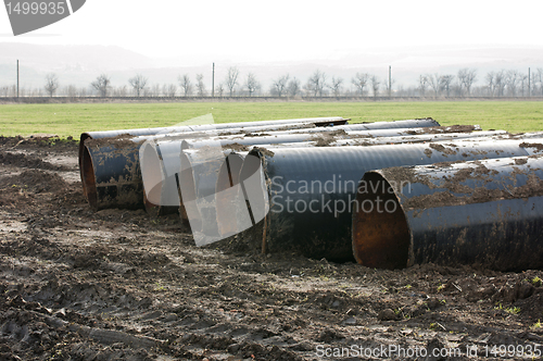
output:
[[[543,46],[542,18],[541,0],[87,0],[72,16],[18,37],[0,10],[0,42],[115,45],[194,63],[291,61],[369,48]]]

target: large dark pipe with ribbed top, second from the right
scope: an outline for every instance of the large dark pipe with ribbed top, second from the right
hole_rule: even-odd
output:
[[[252,189],[249,201],[262,204],[268,200],[267,215],[260,209],[252,211],[254,224],[266,217],[262,233],[269,251],[290,249],[316,259],[354,260],[351,203],[364,173],[389,166],[528,155],[520,144],[500,140],[255,150],[245,158],[243,169],[251,155],[263,166],[254,170],[251,165],[253,171],[245,172],[241,182],[251,175],[261,178],[254,184],[265,185]],[[238,201],[241,208],[243,203]]]

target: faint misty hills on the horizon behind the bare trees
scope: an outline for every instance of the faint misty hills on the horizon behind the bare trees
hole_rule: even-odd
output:
[[[106,46],[38,46],[0,42],[0,87],[15,83],[15,61],[21,62],[21,83],[25,87],[41,87],[46,74],[55,73],[61,86],[87,87],[101,73],[106,73],[114,86],[128,85],[137,73],[149,78],[149,86],[177,84],[177,77],[189,74],[195,83],[195,75],[204,75],[207,89],[211,88],[212,64],[186,66],[182,59],[153,59],[122,47]],[[224,80],[229,66],[240,70],[240,84],[252,72],[267,91],[272,80],[290,74],[305,84],[317,69],[332,76],[342,77],[345,88],[356,72],[376,74],[386,80],[388,66],[392,66],[395,85],[404,87],[417,83],[426,73],[456,74],[460,67],[476,67],[482,80],[489,71],[515,69],[527,73],[528,67],[543,67],[543,47],[505,46],[437,46],[400,49],[371,49],[330,54],[327,59],[293,62],[231,63],[220,61],[217,55],[215,84]]]

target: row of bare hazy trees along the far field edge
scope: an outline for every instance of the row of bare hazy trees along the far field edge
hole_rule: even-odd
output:
[[[88,87],[62,86],[54,73],[46,75],[42,88],[21,87],[21,97],[528,97],[543,96],[543,69],[521,73],[516,70],[489,72],[480,76],[476,69],[460,69],[456,74],[420,74],[418,84],[404,87],[394,79],[379,78],[375,74],[358,72],[351,79],[329,77],[320,70],[302,83],[296,77],[283,74],[272,79],[268,89],[263,89],[254,73],[242,75],[237,66],[228,69],[222,82],[207,89],[204,75],[177,76],[176,83],[150,84],[148,77],[136,74],[127,84],[114,86],[108,74],[100,74]],[[0,86],[0,97],[15,97],[15,85]]]

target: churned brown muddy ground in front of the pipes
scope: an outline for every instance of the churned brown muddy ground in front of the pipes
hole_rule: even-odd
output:
[[[54,142],[0,138],[0,360],[531,360],[543,352],[541,271],[382,271],[197,248],[176,215],[92,212],[77,144]]]

